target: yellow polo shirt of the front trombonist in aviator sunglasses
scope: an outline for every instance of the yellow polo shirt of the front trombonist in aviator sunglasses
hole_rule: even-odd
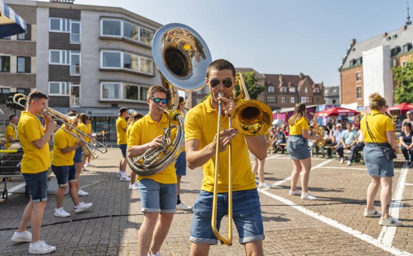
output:
[[[188,111],[185,117],[185,142],[197,139],[199,149],[211,143],[216,134],[218,111],[211,106],[211,96]],[[228,129],[228,116],[221,117],[221,126]],[[251,171],[248,147],[242,135],[232,139],[233,191],[255,189],[254,174]],[[219,154],[218,192],[228,192],[228,148]],[[215,155],[203,166],[202,190],[213,192]]]

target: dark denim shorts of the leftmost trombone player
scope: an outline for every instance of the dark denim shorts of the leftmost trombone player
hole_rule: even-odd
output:
[[[47,201],[47,170],[39,173],[23,173],[33,203]]]

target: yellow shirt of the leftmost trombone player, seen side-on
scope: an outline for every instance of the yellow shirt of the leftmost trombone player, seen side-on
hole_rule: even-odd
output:
[[[40,120],[30,112],[22,111],[17,130],[23,148],[22,173],[46,171],[50,166],[49,144],[46,143],[42,149],[37,149],[33,144],[45,134]]]

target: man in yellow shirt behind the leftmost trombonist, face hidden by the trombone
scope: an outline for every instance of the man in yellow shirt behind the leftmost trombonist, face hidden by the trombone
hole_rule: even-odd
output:
[[[75,113],[69,112],[66,114],[69,117],[76,116]],[[72,126],[76,127],[79,123],[77,118]],[[77,141],[77,139],[69,134],[72,128],[66,125],[59,128],[55,133],[53,145],[52,170],[58,180],[58,191],[56,192],[56,208],[55,216],[69,217],[70,213],[63,209],[63,196],[66,191],[67,184],[69,184],[69,194],[75,205],[75,213],[82,212],[92,206],[92,203],[79,202],[78,191],[76,187],[76,167],[73,162],[75,150],[82,147],[85,143]],[[65,130],[67,131],[65,131]]]

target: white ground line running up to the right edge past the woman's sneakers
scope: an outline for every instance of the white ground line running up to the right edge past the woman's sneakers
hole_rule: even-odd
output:
[[[393,201],[390,203],[390,216],[396,221],[399,220],[400,210],[403,204],[400,200],[403,199],[403,192],[406,185],[407,174],[409,173],[409,166],[405,162],[400,174],[399,181],[397,182],[396,192],[394,192]],[[397,226],[383,226],[382,232],[380,232],[377,240],[384,245],[391,246],[393,243],[394,235],[396,234]]]

